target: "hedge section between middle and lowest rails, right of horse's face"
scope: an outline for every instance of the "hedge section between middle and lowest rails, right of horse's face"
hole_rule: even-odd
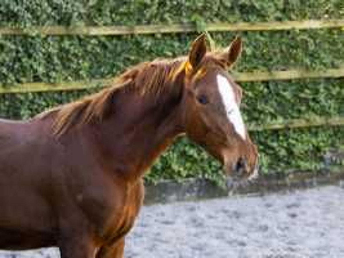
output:
[[[258,125],[286,119],[344,116],[343,79],[245,83],[245,120]]]

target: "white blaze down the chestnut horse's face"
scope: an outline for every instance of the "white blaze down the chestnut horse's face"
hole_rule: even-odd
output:
[[[241,117],[238,104],[235,100],[235,94],[233,86],[230,85],[228,79],[218,74],[217,77],[217,86],[222,98],[222,103],[225,107],[227,118],[234,126],[235,131],[240,135],[244,140],[246,139],[246,129]]]

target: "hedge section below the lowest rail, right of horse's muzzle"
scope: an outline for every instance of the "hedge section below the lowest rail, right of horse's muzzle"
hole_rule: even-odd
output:
[[[343,127],[317,127],[252,133],[263,173],[319,170],[324,154],[344,144]]]

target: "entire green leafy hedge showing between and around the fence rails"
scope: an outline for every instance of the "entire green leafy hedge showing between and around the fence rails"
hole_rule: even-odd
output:
[[[139,25],[195,22],[334,19],[342,0],[17,0],[0,2],[0,26]],[[187,53],[196,33],[127,36],[0,36],[0,84],[111,77],[156,57]],[[233,33],[211,34],[226,46]],[[245,48],[236,71],[337,68],[344,63],[343,29],[242,32]],[[344,116],[344,79],[243,83],[246,122]],[[28,118],[93,90],[0,95],[0,117]],[[251,132],[263,171],[316,170],[323,154],[343,148],[343,127]],[[148,179],[205,176],[218,163],[182,139],[157,162]]]

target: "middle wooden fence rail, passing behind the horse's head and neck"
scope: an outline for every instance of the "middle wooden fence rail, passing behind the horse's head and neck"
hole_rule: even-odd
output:
[[[269,80],[291,80],[305,78],[340,78],[344,77],[344,67],[337,69],[327,69],[324,71],[304,71],[291,69],[287,71],[256,71],[234,73],[233,75],[237,82],[259,82]],[[84,80],[62,83],[23,83],[14,86],[2,86],[0,84],[0,94],[89,89],[94,87],[104,87],[109,82],[109,80],[110,79]]]

